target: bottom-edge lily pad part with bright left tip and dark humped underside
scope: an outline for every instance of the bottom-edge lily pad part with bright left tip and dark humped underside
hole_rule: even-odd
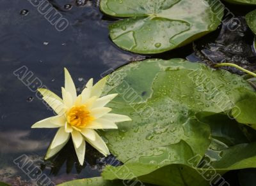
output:
[[[148,169],[154,170],[151,173],[139,176],[148,172]],[[140,174],[138,172],[140,171]],[[114,180],[122,173],[124,175],[132,175],[135,180],[143,183],[154,183],[163,186],[208,186],[209,182],[205,180],[196,169],[180,164],[172,164],[161,168],[154,168],[152,164],[125,164],[120,167],[108,166],[104,169],[103,176],[108,180]]]

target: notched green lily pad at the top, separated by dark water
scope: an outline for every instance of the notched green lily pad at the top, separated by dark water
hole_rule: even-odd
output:
[[[139,54],[159,54],[214,31],[224,6],[214,0],[101,0],[100,10],[125,17],[109,25],[118,47]]]

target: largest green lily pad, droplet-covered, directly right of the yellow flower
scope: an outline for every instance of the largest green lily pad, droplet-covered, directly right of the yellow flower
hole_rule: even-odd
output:
[[[104,91],[118,93],[108,104],[113,113],[132,118],[118,124],[118,130],[103,133],[122,162],[181,140],[194,154],[203,155],[210,129],[196,114],[227,114],[248,92],[256,96],[240,76],[183,59],[132,62],[109,75]]]

